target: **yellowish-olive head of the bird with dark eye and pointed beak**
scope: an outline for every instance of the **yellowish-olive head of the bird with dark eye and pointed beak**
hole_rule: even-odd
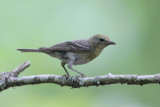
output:
[[[115,45],[115,42],[109,40],[109,38],[102,34],[97,34],[89,38],[89,42],[93,47],[105,48],[109,45]]]

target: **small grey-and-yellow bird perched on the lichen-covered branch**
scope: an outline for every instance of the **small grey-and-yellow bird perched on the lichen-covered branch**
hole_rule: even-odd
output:
[[[82,77],[86,77],[83,73],[73,68],[73,65],[86,64],[103,51],[109,45],[116,43],[110,41],[108,36],[96,34],[88,39],[66,41],[53,45],[51,47],[40,47],[38,49],[17,49],[21,52],[41,52],[50,55],[51,57],[61,60],[61,66],[65,70],[67,76],[70,76],[65,65],[68,68],[79,73]]]

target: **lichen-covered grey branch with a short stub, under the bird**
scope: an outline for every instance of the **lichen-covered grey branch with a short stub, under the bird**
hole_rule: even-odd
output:
[[[160,74],[156,75],[112,75],[109,73],[104,76],[97,77],[80,77],[80,76],[58,76],[58,75],[33,75],[18,77],[18,75],[30,66],[30,62],[26,61],[11,72],[0,73],[0,92],[9,88],[31,84],[54,83],[61,86],[70,86],[72,88],[100,86],[109,84],[128,84],[128,85],[144,85],[144,84],[160,84]]]

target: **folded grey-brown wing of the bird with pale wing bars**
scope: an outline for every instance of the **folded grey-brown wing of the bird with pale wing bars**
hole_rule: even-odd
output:
[[[89,52],[91,51],[91,47],[87,40],[67,41],[67,42],[59,43],[44,49],[52,52],[58,52],[58,51]]]

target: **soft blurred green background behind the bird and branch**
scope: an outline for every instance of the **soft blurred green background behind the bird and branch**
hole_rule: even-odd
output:
[[[31,66],[20,76],[63,75],[59,60],[16,49],[99,33],[117,45],[105,48],[94,61],[76,66],[77,70],[87,76],[160,72],[160,0],[0,0],[0,72],[30,60]],[[159,90],[153,84],[80,89],[30,85],[0,93],[0,107],[160,107]]]

